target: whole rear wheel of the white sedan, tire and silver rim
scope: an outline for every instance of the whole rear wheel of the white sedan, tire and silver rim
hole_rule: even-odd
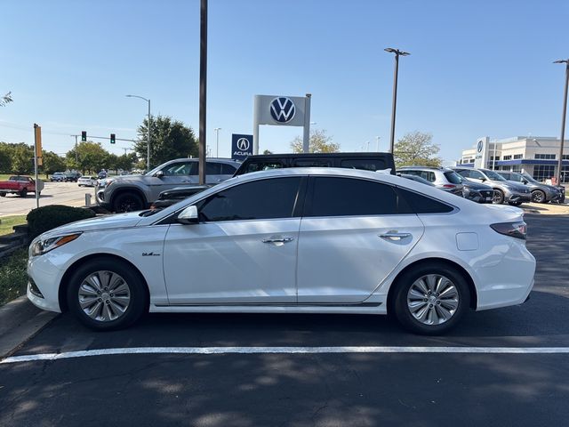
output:
[[[444,263],[423,264],[397,280],[392,310],[414,334],[444,334],[469,308],[469,285]]]

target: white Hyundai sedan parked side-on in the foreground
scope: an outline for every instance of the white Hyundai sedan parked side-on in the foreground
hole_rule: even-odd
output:
[[[393,312],[441,334],[466,310],[525,302],[534,270],[520,209],[393,175],[293,168],[48,231],[29,247],[28,298],[98,330],[148,310]]]

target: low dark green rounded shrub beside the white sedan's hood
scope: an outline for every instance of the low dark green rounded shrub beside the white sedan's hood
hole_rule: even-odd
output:
[[[29,226],[29,238],[35,238],[45,231],[68,224],[92,218],[95,214],[90,209],[64,205],[49,205],[32,209],[26,220]]]

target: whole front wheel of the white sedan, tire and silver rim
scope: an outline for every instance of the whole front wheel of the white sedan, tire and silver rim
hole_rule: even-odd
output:
[[[68,307],[85,326],[99,331],[132,325],[147,310],[145,285],[123,262],[86,262],[68,282]]]

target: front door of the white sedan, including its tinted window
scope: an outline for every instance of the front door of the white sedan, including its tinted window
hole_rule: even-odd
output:
[[[170,303],[296,302],[301,182],[237,184],[196,203],[199,223],[172,224],[164,242]]]

